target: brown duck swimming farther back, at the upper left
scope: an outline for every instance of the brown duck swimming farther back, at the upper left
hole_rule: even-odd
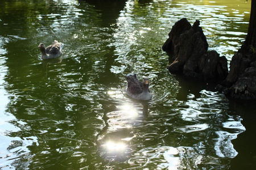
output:
[[[52,59],[60,57],[63,46],[63,43],[54,40],[52,45],[47,46],[47,48],[43,43],[40,43],[38,48],[40,48],[42,52],[42,59]]]

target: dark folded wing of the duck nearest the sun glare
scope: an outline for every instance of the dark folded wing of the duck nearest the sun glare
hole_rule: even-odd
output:
[[[133,95],[138,95],[143,92],[143,83],[137,79],[136,74],[129,74],[126,76],[127,91]]]

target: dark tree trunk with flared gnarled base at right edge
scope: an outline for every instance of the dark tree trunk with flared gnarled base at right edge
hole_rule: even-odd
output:
[[[232,57],[226,79],[216,88],[232,99],[256,100],[256,1],[251,1],[245,42]]]

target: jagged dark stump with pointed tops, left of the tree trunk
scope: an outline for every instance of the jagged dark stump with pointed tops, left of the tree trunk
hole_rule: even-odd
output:
[[[226,57],[212,50],[208,52],[208,43],[199,20],[191,26],[183,18],[175,23],[162,49],[169,56],[170,73],[182,73],[189,78],[202,80],[224,80],[228,75]]]

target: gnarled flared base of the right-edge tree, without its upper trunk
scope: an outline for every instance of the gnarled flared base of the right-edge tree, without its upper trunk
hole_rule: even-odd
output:
[[[216,87],[232,99],[256,100],[256,52],[253,47],[250,49],[234,54],[228,76]]]

